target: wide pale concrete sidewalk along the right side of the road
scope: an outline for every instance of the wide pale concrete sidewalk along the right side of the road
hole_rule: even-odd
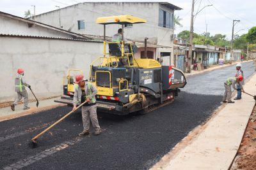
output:
[[[256,74],[244,90],[256,94]],[[243,94],[234,104],[222,108],[205,125],[196,127],[152,169],[228,169],[243,138],[255,106],[253,97]]]

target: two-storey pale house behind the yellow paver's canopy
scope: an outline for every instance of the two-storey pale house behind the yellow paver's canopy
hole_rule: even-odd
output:
[[[173,20],[175,10],[181,10],[181,8],[164,2],[86,2],[42,13],[31,19],[79,34],[102,36],[102,25],[95,23],[98,17],[134,15],[147,20],[147,23],[125,25],[125,38],[142,42],[147,37],[150,44],[156,45],[156,48],[148,48],[148,57],[154,59],[163,57],[164,65],[169,65],[174,61]],[[106,36],[111,37],[116,34],[119,27],[120,25],[107,25]],[[143,57],[143,48],[140,49],[139,55],[139,57]]]

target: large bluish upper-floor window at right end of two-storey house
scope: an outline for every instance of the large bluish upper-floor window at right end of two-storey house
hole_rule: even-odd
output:
[[[173,13],[159,9],[158,26],[173,29]]]

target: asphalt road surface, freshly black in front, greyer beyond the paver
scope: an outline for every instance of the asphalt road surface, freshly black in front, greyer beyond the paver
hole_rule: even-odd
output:
[[[243,69],[246,77],[254,73],[252,62]],[[77,111],[31,149],[31,138],[68,113],[68,106],[0,122],[0,169],[148,169],[221,105],[223,81],[234,74],[232,66],[191,76],[172,104],[146,115],[98,113],[100,136],[77,137],[83,130]]]

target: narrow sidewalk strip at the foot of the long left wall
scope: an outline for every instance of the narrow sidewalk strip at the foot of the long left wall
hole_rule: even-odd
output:
[[[12,111],[10,106],[6,108],[0,108],[0,122],[4,120],[9,120],[12,118],[22,117],[24,115],[37,113],[43,110],[50,110],[52,108],[65,105],[65,104],[54,103],[54,100],[58,98],[60,97],[39,101],[38,108],[36,108],[36,102],[29,103],[28,106],[30,107],[30,109],[26,111],[23,110],[23,103],[15,106],[15,111]]]

